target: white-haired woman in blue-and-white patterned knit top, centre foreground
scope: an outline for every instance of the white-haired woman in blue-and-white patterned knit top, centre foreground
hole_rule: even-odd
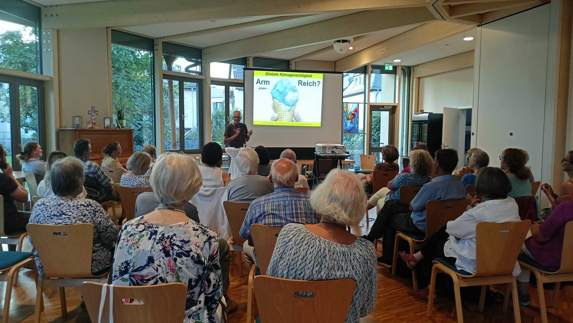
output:
[[[364,189],[351,172],[332,170],[312,192],[320,223],[289,223],[278,234],[266,274],[320,281],[352,278],[356,289],[346,323],[358,323],[374,310],[378,297],[376,251],[372,243],[346,231],[362,220]]]

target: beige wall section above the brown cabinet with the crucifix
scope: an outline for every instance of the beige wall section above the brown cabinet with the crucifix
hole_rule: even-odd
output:
[[[72,116],[91,124],[90,107],[96,107],[96,125],[103,128],[109,116],[107,30],[62,29],[59,34],[60,127],[72,128]]]

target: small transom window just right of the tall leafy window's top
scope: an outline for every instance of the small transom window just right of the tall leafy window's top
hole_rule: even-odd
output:
[[[201,49],[163,42],[163,69],[201,74]]]

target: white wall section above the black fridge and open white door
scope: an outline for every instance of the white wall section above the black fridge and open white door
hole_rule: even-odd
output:
[[[419,109],[443,113],[444,107],[459,108],[472,105],[473,67],[420,77]]]

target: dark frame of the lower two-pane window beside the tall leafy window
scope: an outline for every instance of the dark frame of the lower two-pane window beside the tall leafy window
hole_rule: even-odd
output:
[[[193,75],[193,74],[190,74]],[[205,129],[203,129],[203,82],[195,77],[186,77],[186,76],[175,76],[170,74],[163,74],[163,80],[171,80],[179,82],[179,140],[181,141],[178,143],[178,149],[163,149],[166,152],[183,152],[186,154],[192,153],[201,153],[203,145],[205,145],[203,140],[203,133]],[[163,81],[162,80],[162,81]],[[199,148],[197,149],[185,149],[185,90],[183,83],[190,82],[197,84],[197,125],[199,127],[199,132],[197,133]],[[165,119],[165,116],[163,116]],[[165,131],[163,131],[165,133]],[[164,148],[165,140],[163,140],[160,147]]]

